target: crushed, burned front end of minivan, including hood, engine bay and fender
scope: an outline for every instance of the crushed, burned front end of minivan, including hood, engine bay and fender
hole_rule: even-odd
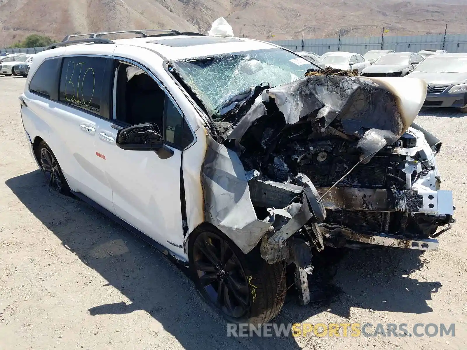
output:
[[[309,71],[221,106],[202,173],[205,214],[244,252],[261,239],[264,259],[303,273],[310,246],[433,249],[430,237],[450,228],[452,197],[434,161],[441,142],[412,124],[425,83],[352,75]]]

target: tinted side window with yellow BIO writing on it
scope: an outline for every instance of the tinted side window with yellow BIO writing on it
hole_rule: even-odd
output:
[[[100,114],[106,58],[64,57],[60,101]]]

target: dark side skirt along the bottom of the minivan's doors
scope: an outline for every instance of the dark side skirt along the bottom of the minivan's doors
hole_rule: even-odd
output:
[[[128,224],[126,221],[120,219],[120,217],[116,216],[112,212],[106,210],[106,208],[102,207],[98,203],[94,202],[91,198],[83,195],[80,192],[75,192],[73,190],[70,191],[74,196],[78,197],[81,199],[83,202],[89,204],[92,206],[92,208],[99,210],[102,214],[104,214],[106,217],[109,219],[112,219],[115,221],[117,224],[120,226],[123,226],[126,228],[128,231],[131,233],[135,234],[148,244],[152,245],[154,248],[156,248],[158,251],[162,252],[165,256],[167,256],[170,260],[175,262],[176,264],[188,266],[188,260],[184,259],[183,257],[179,256],[178,254],[168,250],[166,247],[161,245],[159,242],[157,242],[155,239],[150,238],[148,235],[146,235],[144,232],[138,230],[137,228],[133,227],[132,225]]]

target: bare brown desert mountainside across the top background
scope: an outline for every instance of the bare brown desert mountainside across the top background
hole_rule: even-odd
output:
[[[224,16],[237,36],[268,40],[467,32],[467,0],[0,0],[0,47],[28,34],[174,28],[205,33]]]

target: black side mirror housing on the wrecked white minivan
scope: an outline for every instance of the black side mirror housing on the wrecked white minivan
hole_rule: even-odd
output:
[[[115,143],[129,151],[155,151],[163,147],[163,138],[156,124],[143,123],[120,129]]]

